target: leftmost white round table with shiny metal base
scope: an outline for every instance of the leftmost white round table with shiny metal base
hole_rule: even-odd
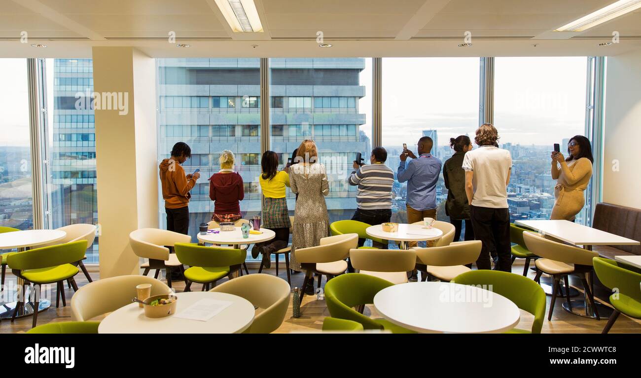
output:
[[[4,232],[3,234],[0,234],[0,250],[17,248],[18,252],[23,252],[27,247],[53,243],[54,241],[63,239],[65,236],[67,236],[67,232],[63,230],[24,230]],[[17,277],[16,283],[17,288],[20,288],[24,284],[24,280]],[[3,313],[0,313],[0,318],[12,318],[13,311],[15,311],[15,306],[17,304],[18,302],[0,304],[0,311],[4,311]],[[38,302],[38,313],[48,309],[50,305],[50,300],[40,298],[40,302]],[[31,302],[27,302],[20,307],[15,317],[22,318],[23,316],[29,316],[31,314],[33,314],[33,304]]]

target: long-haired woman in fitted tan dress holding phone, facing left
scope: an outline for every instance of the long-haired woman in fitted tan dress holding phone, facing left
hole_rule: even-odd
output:
[[[576,135],[567,144],[567,159],[560,152],[552,151],[552,178],[554,187],[554,207],[550,219],[574,221],[576,214],[585,205],[583,191],[592,177],[592,147],[583,135]]]

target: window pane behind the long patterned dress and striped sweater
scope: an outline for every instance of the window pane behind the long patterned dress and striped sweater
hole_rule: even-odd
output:
[[[305,139],[317,144],[329,180],[329,221],[350,219],[356,187],[347,184],[356,153],[369,164],[371,58],[272,58],[270,142],[281,167]],[[294,214],[295,196],[288,191]]]

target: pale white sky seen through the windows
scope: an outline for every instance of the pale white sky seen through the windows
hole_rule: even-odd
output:
[[[47,59],[47,85],[53,85]],[[361,126],[371,137],[372,67],[365,60]],[[501,143],[551,144],[583,134],[587,58],[495,58],[494,125]],[[0,146],[29,141],[25,59],[0,59]],[[440,145],[474,135],[478,126],[479,58],[383,58],[383,145],[415,144],[437,129]],[[49,90],[51,103],[53,90]],[[50,120],[51,121],[51,120]],[[6,132],[5,130],[11,130]]]

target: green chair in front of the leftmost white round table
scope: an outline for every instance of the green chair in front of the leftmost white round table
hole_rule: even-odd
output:
[[[10,255],[7,262],[13,275],[25,280],[25,285],[22,286],[22,298],[24,298],[26,283],[31,282],[35,289],[33,308],[37,309],[38,302],[40,302],[41,286],[56,282],[58,284],[57,291],[62,295],[62,303],[65,305],[63,282],[69,280],[74,291],[78,291],[78,285],[73,277],[78,274],[79,270],[74,264],[85,256],[86,250],[87,241],[82,239]],[[26,300],[26,298],[24,299]],[[24,302],[18,302],[15,308],[17,310],[22,306],[24,306]],[[12,322],[15,320],[17,312],[13,312]],[[33,327],[36,326],[37,320],[38,311],[33,311]]]

